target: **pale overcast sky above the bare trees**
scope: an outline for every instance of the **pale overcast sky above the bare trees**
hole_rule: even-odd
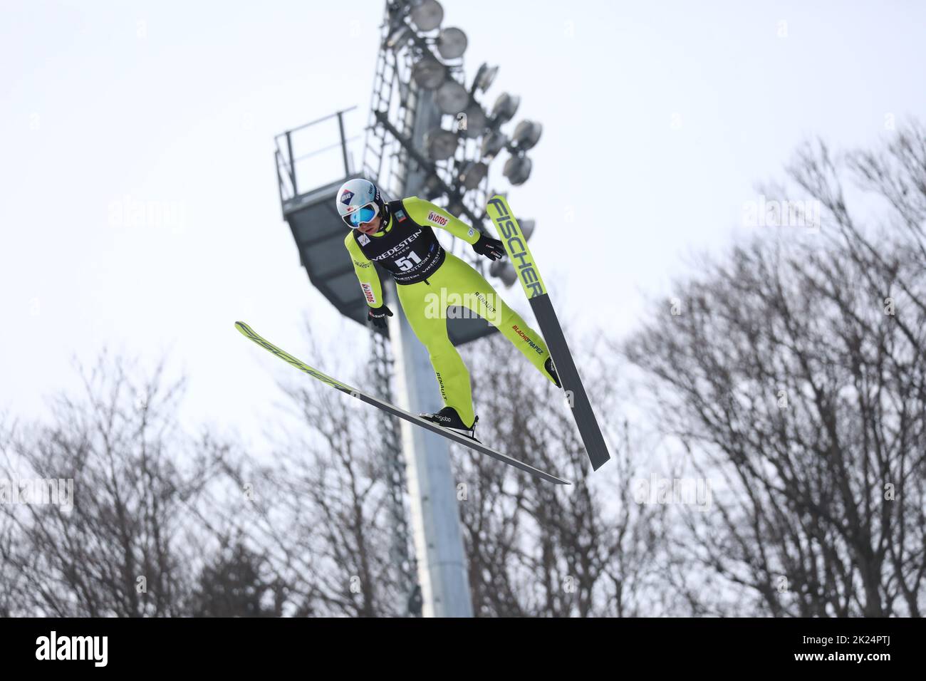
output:
[[[469,36],[469,79],[500,66],[488,103],[519,95],[515,120],[544,125],[532,178],[508,198],[536,219],[533,254],[580,328],[632,330],[652,313],[641,292],[742,233],[756,183],[782,177],[802,140],[867,145],[926,110],[920,2],[444,10]],[[237,319],[328,372],[355,363],[367,333],[299,265],[272,140],[355,105],[360,132],[382,13],[377,0],[3,0],[0,410],[41,415],[75,385],[71,360],[107,345],[169,351],[191,378],[190,422],[256,434],[291,370]],[[132,217],[137,202],[160,217]],[[529,310],[518,287],[503,294]],[[318,357],[307,317],[328,339]]]

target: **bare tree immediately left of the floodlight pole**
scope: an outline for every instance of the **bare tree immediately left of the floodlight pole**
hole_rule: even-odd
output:
[[[253,494],[230,506],[228,522],[267,558],[286,592],[284,613],[406,615],[408,585],[390,559],[380,413],[291,370],[285,376],[296,427],[287,422],[273,465],[251,458],[229,467]]]

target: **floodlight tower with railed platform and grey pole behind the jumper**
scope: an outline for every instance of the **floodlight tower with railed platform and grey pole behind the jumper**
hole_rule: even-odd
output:
[[[297,156],[293,137],[300,129],[277,138],[283,216],[293,231],[309,279],[337,309],[359,323],[366,322],[367,304],[358,293],[353,265],[344,251],[344,223],[334,204],[344,180],[365,177],[377,183],[387,200],[418,195],[484,232],[487,197],[504,194],[488,191],[489,164],[507,150],[510,158],[502,171],[507,181],[518,185],[531,174],[532,163],[526,152],[537,144],[541,125],[523,120],[511,135],[501,131],[517,111],[519,97],[503,93],[487,112],[480,98],[494,82],[498,68],[482,64],[467,86],[462,60],[466,34],[457,28],[441,28],[443,20],[444,9],[436,0],[386,2],[359,170],[352,165],[348,150],[352,140],[344,132],[347,111],[310,124],[317,127],[325,121],[332,123],[336,117],[340,145],[321,151],[335,149],[344,161],[344,174],[316,189],[304,191],[295,166],[309,157],[317,166],[315,155],[320,152]],[[519,222],[525,235],[530,236],[534,222]],[[468,245],[440,230],[436,232],[447,250],[467,260],[483,275],[506,286],[516,281],[514,268],[507,261],[494,261],[485,271],[484,259],[477,259]],[[375,267],[394,310],[388,333],[371,332],[376,349],[376,389],[387,400],[394,393],[394,401],[413,413],[439,410],[442,405],[427,351],[398,304],[392,277],[378,265]],[[457,346],[495,332],[488,322],[459,314],[448,313],[446,323],[447,333]],[[386,338],[388,345],[383,343]],[[394,382],[389,381],[390,375]],[[395,444],[391,448],[387,443],[386,449],[397,528],[397,561],[407,544],[402,512],[403,487],[407,484],[415,557],[401,562],[405,568],[417,569],[419,584],[415,586],[408,580],[409,610],[414,613],[419,603],[425,616],[469,617],[469,577],[448,441],[404,421],[399,427],[401,445],[396,424],[390,422],[387,433],[394,437],[387,439]],[[399,470],[403,467],[404,475]]]

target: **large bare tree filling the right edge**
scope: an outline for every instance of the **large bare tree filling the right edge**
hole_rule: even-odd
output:
[[[790,174],[820,202],[818,243],[781,233],[706,260],[676,284],[681,313],[624,347],[660,427],[723,482],[677,553],[720,585],[687,594],[702,612],[919,616],[926,135],[840,159],[807,145]],[[880,223],[850,212],[844,176]]]

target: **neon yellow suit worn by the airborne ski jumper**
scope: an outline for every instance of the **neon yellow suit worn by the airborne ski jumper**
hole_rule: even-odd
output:
[[[476,418],[469,371],[447,336],[446,308],[450,305],[467,307],[492,323],[556,385],[544,370],[550,354],[541,335],[507,306],[482,274],[444,250],[432,228],[444,229],[468,244],[475,244],[480,233],[418,196],[390,201],[387,206],[388,221],[383,218],[385,226],[379,232],[351,230],[344,246],[370,308],[383,304],[380,277],[372,263],[393,276],[412,331],[428,348],[444,406],[457,410],[468,425]]]

